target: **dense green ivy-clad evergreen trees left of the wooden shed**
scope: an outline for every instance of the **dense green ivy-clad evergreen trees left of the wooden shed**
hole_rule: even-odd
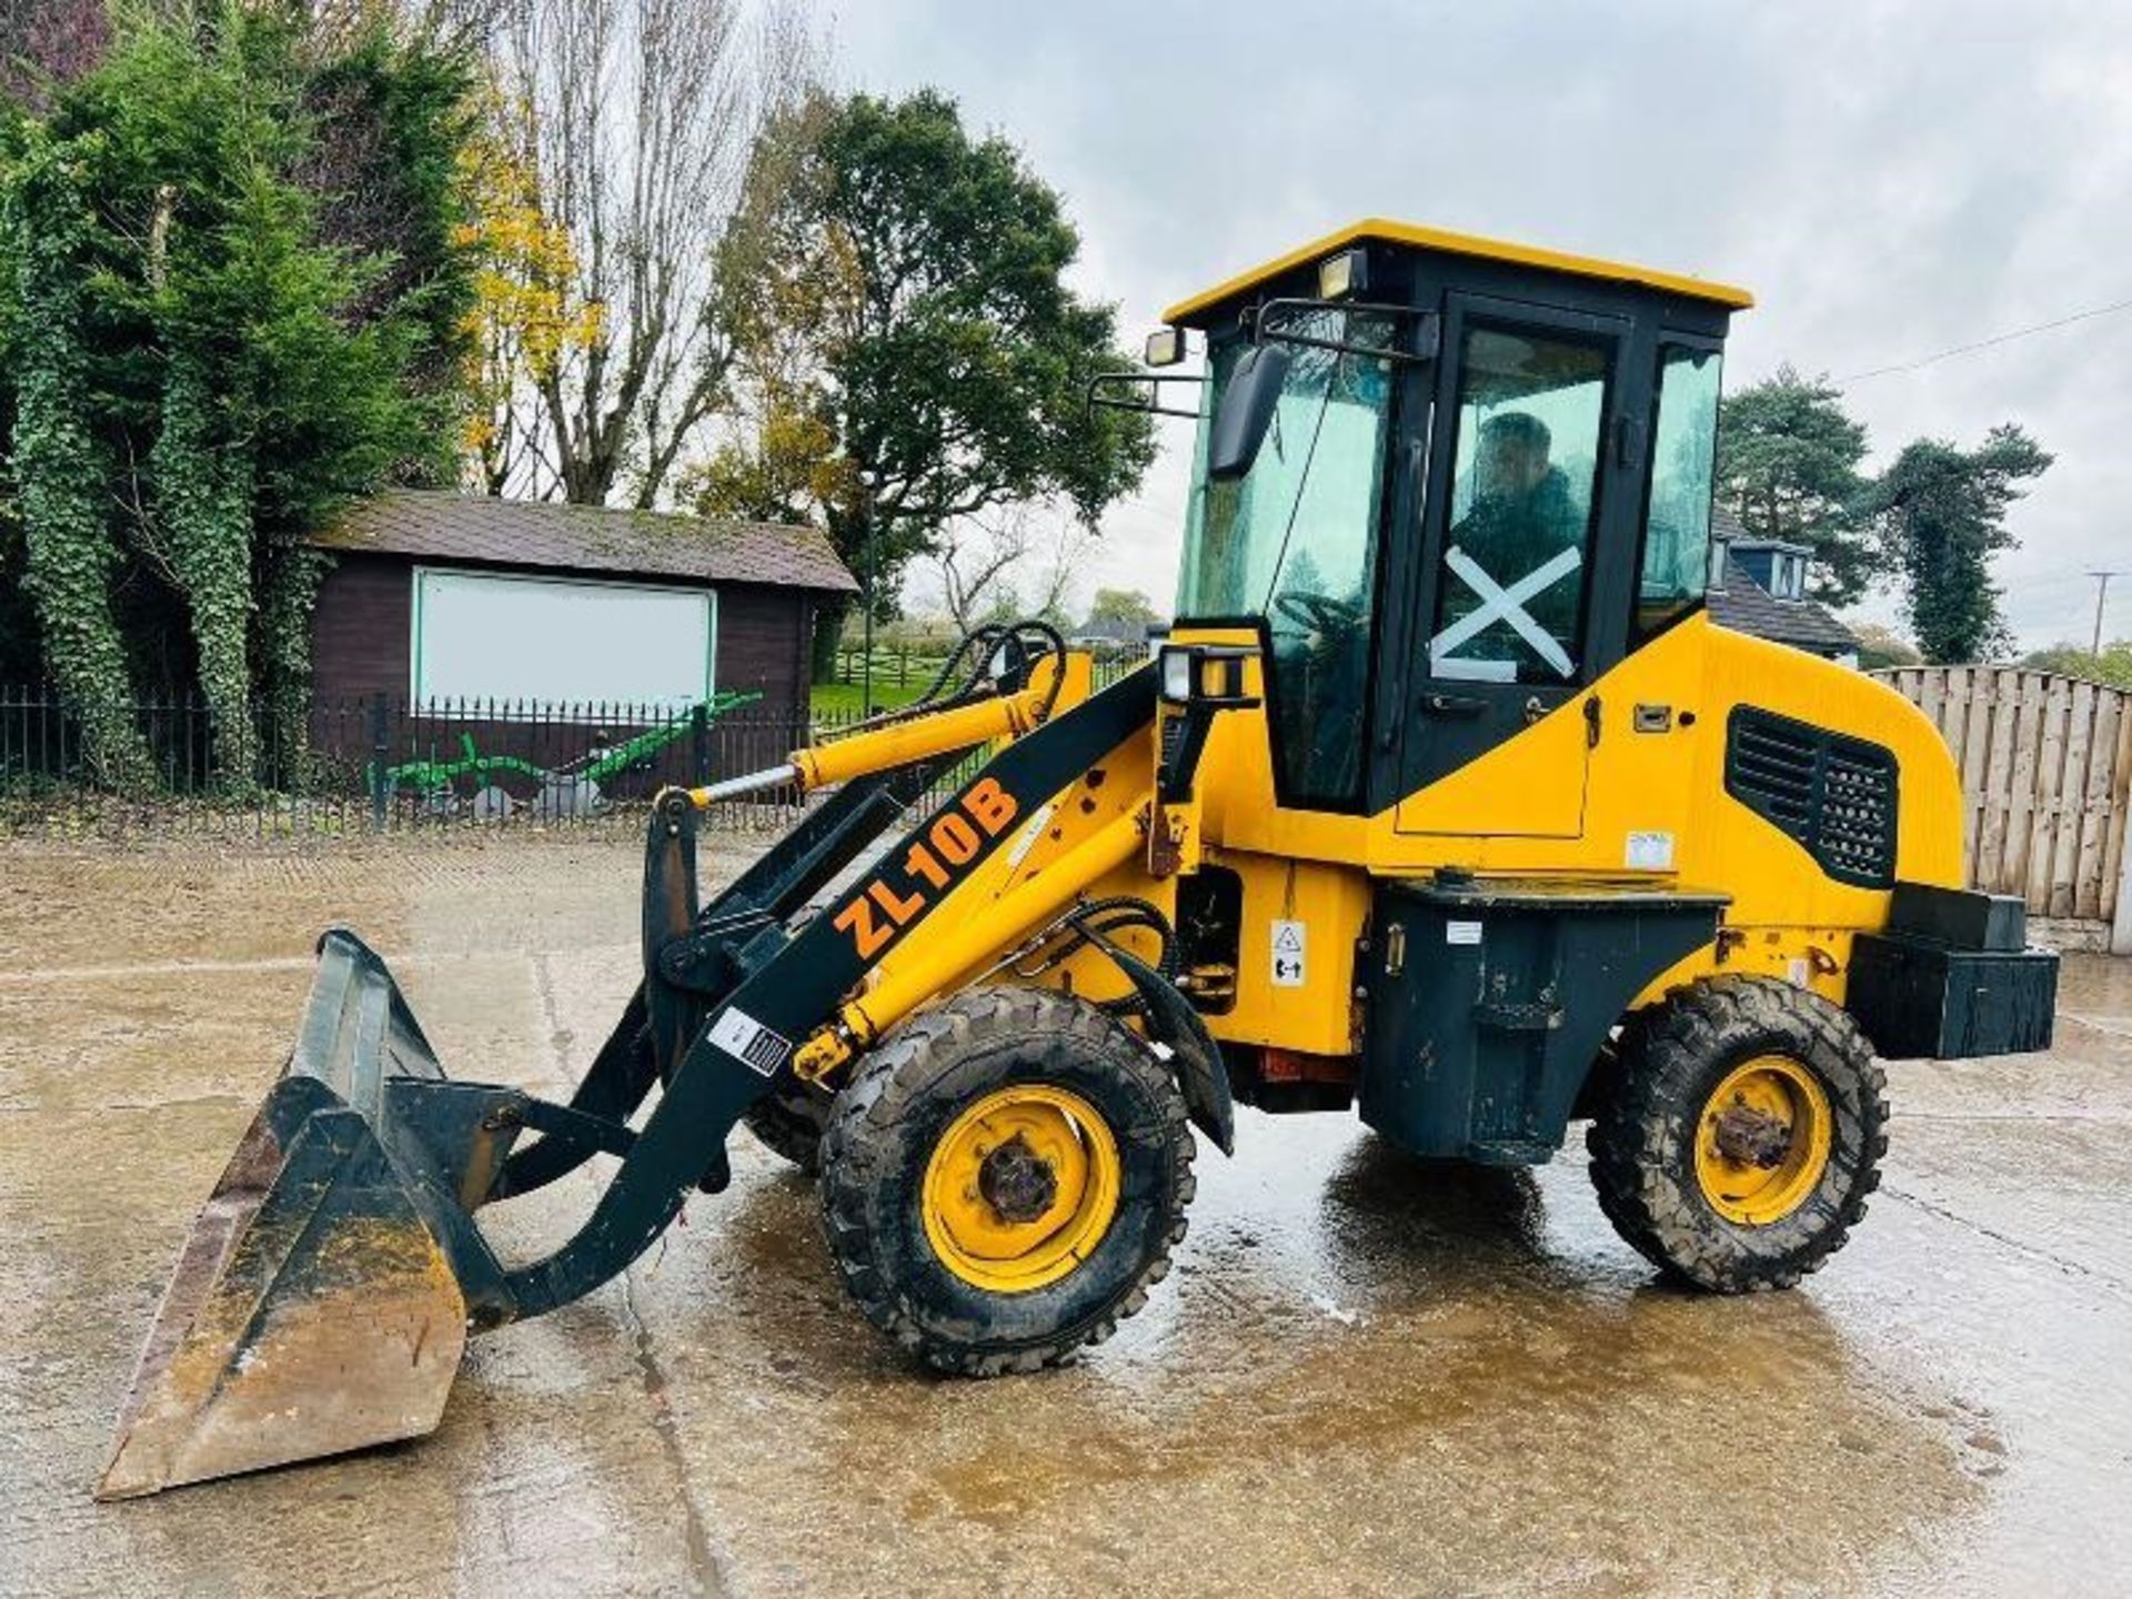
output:
[[[0,102],[0,667],[77,704],[115,787],[147,765],[100,708],[196,691],[243,787],[262,716],[301,748],[303,535],[452,473],[473,68],[382,6],[115,15],[96,66]]]

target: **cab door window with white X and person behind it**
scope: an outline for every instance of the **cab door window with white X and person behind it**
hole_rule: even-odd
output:
[[[1539,328],[1467,330],[1433,676],[1578,676],[1605,384],[1601,343]]]

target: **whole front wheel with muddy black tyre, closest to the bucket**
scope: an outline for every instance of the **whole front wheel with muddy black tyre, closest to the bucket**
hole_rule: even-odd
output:
[[[972,989],[889,1034],[836,1096],[829,1256],[927,1367],[1036,1371],[1111,1337],[1168,1275],[1192,1153],[1177,1081],[1119,1021]]]

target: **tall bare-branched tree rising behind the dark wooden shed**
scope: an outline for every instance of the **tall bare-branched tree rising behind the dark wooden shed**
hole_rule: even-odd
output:
[[[733,358],[718,243],[814,55],[791,0],[516,0],[497,28],[503,134],[569,239],[586,328],[527,382],[535,492],[648,507],[716,411]]]

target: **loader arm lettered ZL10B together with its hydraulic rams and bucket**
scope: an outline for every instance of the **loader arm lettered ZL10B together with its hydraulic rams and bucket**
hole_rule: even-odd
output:
[[[1060,676],[1047,680],[1047,669]],[[1153,674],[1075,704],[1085,674],[1085,657],[1053,657],[1021,689],[797,753],[776,780],[840,791],[701,912],[697,823],[718,791],[663,793],[646,846],[644,983],[569,1104],[450,1081],[386,964],[354,934],[328,934],[296,1051],[149,1328],[98,1495],[431,1431],[465,1332],[584,1296],[625,1271],[691,1190],[727,1183],[733,1124],[772,1092],[800,1040],[870,1038],[927,998],[923,972],[998,959],[1130,857],[1143,840],[1136,806],[1077,829],[1070,849],[1017,842],[1053,795],[1113,753],[1145,761]],[[806,915],[942,763],[991,740],[1011,742],[883,857],[940,849],[934,893],[885,900],[872,876]],[[1008,857],[1002,878],[994,868]],[[947,927],[940,906],[987,870],[983,934]],[[863,919],[887,934],[859,938]],[[947,932],[955,938],[942,940]],[[942,964],[942,949],[955,959]],[[883,976],[853,1008],[859,985],[904,951],[898,987]],[[633,1128],[631,1113],[661,1081]],[[529,1130],[539,1141],[514,1156]],[[620,1164],[576,1234],[542,1260],[499,1258],[480,1207],[593,1153]]]

